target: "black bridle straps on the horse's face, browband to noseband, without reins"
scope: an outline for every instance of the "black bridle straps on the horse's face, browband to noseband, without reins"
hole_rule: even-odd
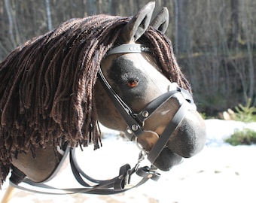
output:
[[[109,50],[106,56],[117,53],[143,52],[150,52],[150,48],[143,44],[122,44]],[[192,96],[186,89],[179,87],[177,83],[172,83],[172,89],[169,92],[166,92],[163,95],[155,98],[142,111],[135,113],[128,105],[126,105],[126,102],[123,102],[122,98],[120,98],[120,96],[114,92],[114,89],[112,89],[111,85],[103,75],[101,68],[99,68],[99,80],[101,81],[102,86],[104,86],[106,92],[108,92],[111,101],[120,112],[123,120],[125,120],[127,125],[125,135],[130,140],[133,140],[133,138],[136,138],[137,140],[137,138],[145,134],[145,130],[143,129],[145,121],[148,120],[148,118],[151,117],[151,115],[154,114],[158,108],[169,101],[170,98],[175,96],[179,101],[181,101],[181,105],[178,108],[178,111],[176,111],[172,120],[167,124],[166,129],[164,129],[162,135],[159,136],[157,143],[154,144],[154,147],[148,152],[148,160],[151,162],[151,164],[154,164],[163,148],[166,147],[166,144],[169,141],[172,133],[183,120],[187,111],[195,109]]]

